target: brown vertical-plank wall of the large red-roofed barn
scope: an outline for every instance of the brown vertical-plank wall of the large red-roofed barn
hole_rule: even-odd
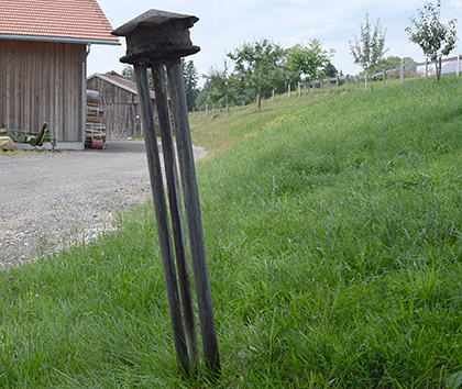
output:
[[[0,124],[81,142],[86,45],[0,41]]]

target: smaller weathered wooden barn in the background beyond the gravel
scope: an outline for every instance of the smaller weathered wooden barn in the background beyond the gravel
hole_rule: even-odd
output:
[[[108,71],[88,77],[87,88],[97,90],[100,95],[107,140],[127,140],[143,135],[135,82],[116,71]],[[156,115],[153,91],[151,91],[151,101]]]

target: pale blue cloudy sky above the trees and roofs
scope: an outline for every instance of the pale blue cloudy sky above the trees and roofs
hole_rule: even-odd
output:
[[[190,14],[199,21],[190,29],[193,44],[200,52],[187,57],[194,60],[199,75],[211,68],[223,69],[227,53],[244,43],[267,38],[283,47],[307,44],[317,38],[323,48],[333,48],[332,64],[343,74],[355,75],[361,68],[353,63],[350,43],[360,36],[366,13],[375,24],[386,29],[385,56],[413,57],[424,62],[420,47],[408,40],[404,31],[409,18],[418,16],[424,0],[98,0],[113,29],[121,26],[150,9]],[[442,0],[441,20],[459,20],[458,36],[462,40],[462,0]],[[92,45],[88,57],[88,75],[116,70],[124,65],[124,37],[120,46]],[[458,41],[451,55],[462,53]]]

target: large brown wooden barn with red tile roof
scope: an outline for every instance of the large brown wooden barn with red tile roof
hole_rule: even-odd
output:
[[[87,56],[119,44],[97,0],[0,1],[0,125],[85,147]]]

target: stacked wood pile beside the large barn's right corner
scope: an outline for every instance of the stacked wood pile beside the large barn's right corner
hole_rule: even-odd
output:
[[[102,123],[99,92],[87,89],[87,125],[85,145],[102,148],[106,142],[106,125]]]

